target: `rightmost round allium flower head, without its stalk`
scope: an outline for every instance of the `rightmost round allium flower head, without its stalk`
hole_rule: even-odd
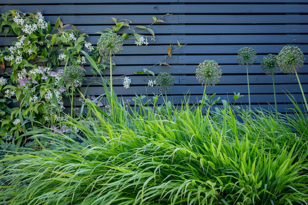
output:
[[[297,46],[285,46],[277,56],[278,66],[284,73],[295,73],[304,65],[304,54]]]

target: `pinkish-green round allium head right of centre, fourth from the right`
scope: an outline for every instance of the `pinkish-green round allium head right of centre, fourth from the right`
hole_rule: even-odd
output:
[[[196,76],[199,83],[206,86],[214,86],[219,83],[222,71],[218,63],[213,60],[206,60],[198,65]]]

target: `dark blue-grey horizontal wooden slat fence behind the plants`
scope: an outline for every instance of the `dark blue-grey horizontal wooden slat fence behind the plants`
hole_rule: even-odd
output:
[[[18,9],[35,13],[41,10],[47,21],[55,23],[58,17],[64,24],[73,24],[89,34],[89,42],[97,43],[99,34],[113,26],[111,17],[129,19],[136,25],[148,26],[152,16],[164,14],[164,23],[152,26],[156,33],[155,41],[149,45],[136,46],[135,40],[124,41],[124,49],[114,58],[115,77],[134,73],[148,68],[164,59],[167,48],[177,48],[177,41],[187,44],[168,58],[168,64],[154,66],[156,76],[160,72],[171,73],[176,84],[168,92],[170,100],[180,103],[184,95],[190,93],[190,102],[201,98],[204,87],[195,77],[197,65],[204,60],[215,60],[223,71],[221,82],[207,89],[207,93],[217,93],[217,97],[231,103],[233,92],[244,97],[238,104],[248,104],[246,68],[237,64],[237,51],[242,47],[252,47],[257,52],[257,63],[249,68],[249,81],[252,105],[270,109],[274,104],[271,76],[266,76],[260,66],[261,60],[269,53],[278,54],[285,45],[295,45],[305,54],[306,63],[298,71],[304,92],[308,98],[308,0],[1,0],[0,12]],[[54,26],[54,25],[52,25]],[[127,28],[119,34],[131,32]],[[147,34],[147,33],[144,33]],[[0,36],[0,47],[11,45],[15,37]],[[61,65],[64,66],[64,65]],[[87,77],[91,78],[90,65],[86,64]],[[108,76],[109,70],[104,70]],[[154,80],[155,77],[152,77]],[[155,87],[146,86],[147,75],[133,75],[130,89],[123,88],[122,80],[114,81],[114,90],[119,97],[130,99],[135,94],[158,93]],[[279,72],[274,76],[278,111],[286,112],[293,105],[285,92],[294,94],[298,103],[303,101],[295,75]],[[88,82],[84,82],[82,91]],[[88,95],[101,95],[103,88],[91,84]],[[161,101],[160,101],[161,102]],[[78,104],[77,104],[78,105]],[[79,103],[80,105],[80,103]]]

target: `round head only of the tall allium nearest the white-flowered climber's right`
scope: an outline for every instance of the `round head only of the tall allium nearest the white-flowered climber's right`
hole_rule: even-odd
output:
[[[111,57],[115,53],[121,52],[123,50],[122,46],[122,37],[112,31],[102,34],[97,42],[97,50],[104,58]]]

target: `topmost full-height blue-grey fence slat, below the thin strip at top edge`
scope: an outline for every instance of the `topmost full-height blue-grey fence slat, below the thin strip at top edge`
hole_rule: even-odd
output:
[[[200,4],[200,5],[164,5],[164,4],[144,4],[136,5],[14,5],[5,6],[5,10],[18,9],[22,12],[34,13],[36,10],[41,10],[44,14],[70,14],[74,11],[75,14],[167,14],[167,13],[306,13],[308,5],[298,4],[230,4],[222,6],[222,4]],[[0,9],[0,12],[3,9]]]

